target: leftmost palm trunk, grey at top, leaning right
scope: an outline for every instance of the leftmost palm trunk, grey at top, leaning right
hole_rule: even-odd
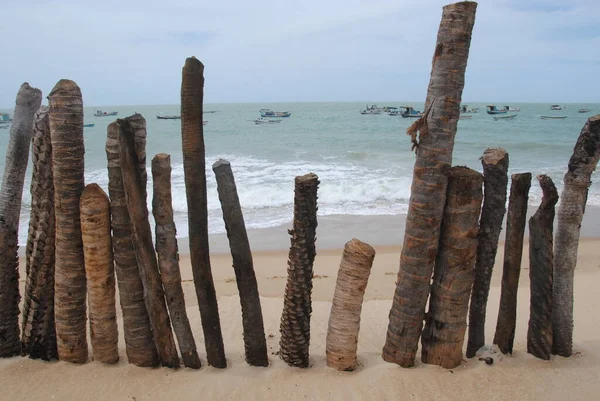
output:
[[[0,358],[21,353],[19,341],[19,217],[35,112],[42,92],[26,82],[17,93],[0,191]]]

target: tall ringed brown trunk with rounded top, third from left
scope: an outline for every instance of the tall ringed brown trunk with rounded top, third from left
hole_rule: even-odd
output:
[[[77,84],[60,80],[48,96],[56,219],[54,312],[59,359],[84,363],[86,281],[79,198],[84,188],[83,101]]]

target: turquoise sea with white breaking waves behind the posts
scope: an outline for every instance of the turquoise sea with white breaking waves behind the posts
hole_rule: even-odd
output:
[[[375,102],[369,102],[369,104]],[[380,106],[422,103],[379,102]],[[530,171],[550,175],[559,189],[573,146],[586,119],[600,112],[600,105],[567,104],[567,109],[551,111],[550,104],[510,104],[520,107],[516,119],[494,121],[485,113],[486,103],[470,120],[460,120],[454,149],[454,164],[481,171],[479,157],[487,147],[503,147],[510,154],[510,172]],[[502,104],[498,104],[504,105]],[[580,114],[579,108],[592,112]],[[258,110],[272,108],[290,111],[292,116],[279,124],[255,125]],[[293,181],[297,175],[316,173],[320,215],[396,215],[406,213],[414,154],[406,128],[414,119],[387,114],[361,115],[364,103],[283,103],[213,104],[205,110],[204,127],[208,178],[209,229],[224,231],[214,175],[210,166],[219,158],[232,164],[240,201],[248,228],[272,227],[292,218]],[[178,105],[105,106],[118,117],[141,113],[148,125],[148,165],[156,153],[171,154],[173,203],[178,231],[187,233],[185,186],[181,156],[179,120],[158,120],[157,114],[179,114]],[[86,183],[107,188],[106,127],[114,117],[94,117],[85,109]],[[565,120],[541,120],[541,115],[566,115]],[[8,130],[0,130],[4,153]],[[4,169],[1,155],[0,170]],[[596,173],[597,174],[597,173]],[[29,178],[26,182],[20,237],[27,234],[29,219]],[[149,187],[151,188],[151,187]],[[530,204],[540,200],[534,183]],[[150,199],[148,203],[150,204]],[[600,206],[600,186],[592,186],[589,204]]]

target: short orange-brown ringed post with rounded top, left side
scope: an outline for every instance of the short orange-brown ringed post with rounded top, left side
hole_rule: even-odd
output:
[[[110,201],[102,188],[97,184],[89,184],[81,194],[79,208],[94,360],[117,363],[119,332],[110,236]]]

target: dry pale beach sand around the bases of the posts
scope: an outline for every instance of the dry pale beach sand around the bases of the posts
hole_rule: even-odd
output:
[[[259,251],[254,263],[261,293],[271,365],[249,367],[243,357],[240,304],[231,257],[212,255],[213,274],[229,367],[204,366],[199,371],[147,369],[127,364],[120,339],[121,361],[105,366],[41,362],[28,358],[0,360],[2,400],[597,400],[600,394],[600,240],[580,245],[576,273],[575,355],[541,361],[526,353],[529,316],[527,249],[519,289],[515,352],[488,366],[465,360],[446,370],[422,364],[403,369],[381,359],[387,316],[398,269],[399,247],[375,247],[377,255],[366,291],[358,346],[359,369],[337,372],[325,364],[325,335],[341,249],[322,250],[315,261],[311,361],[309,369],[290,368],[275,352],[285,286],[287,251]],[[498,313],[502,248],[499,249],[488,307],[486,339],[491,342]],[[188,314],[203,363],[206,362],[189,257],[181,268]],[[21,276],[23,277],[23,276]],[[23,283],[22,283],[23,284]],[[119,327],[122,321],[119,320]]]

